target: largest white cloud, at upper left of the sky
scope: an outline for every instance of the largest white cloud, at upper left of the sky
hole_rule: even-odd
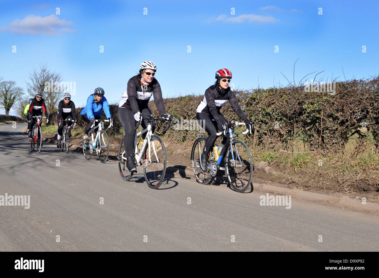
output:
[[[66,19],[59,19],[52,14],[50,16],[30,16],[24,19],[16,19],[10,24],[1,28],[2,31],[21,35],[60,35],[61,33],[75,32],[75,29],[67,28],[74,25]]]

